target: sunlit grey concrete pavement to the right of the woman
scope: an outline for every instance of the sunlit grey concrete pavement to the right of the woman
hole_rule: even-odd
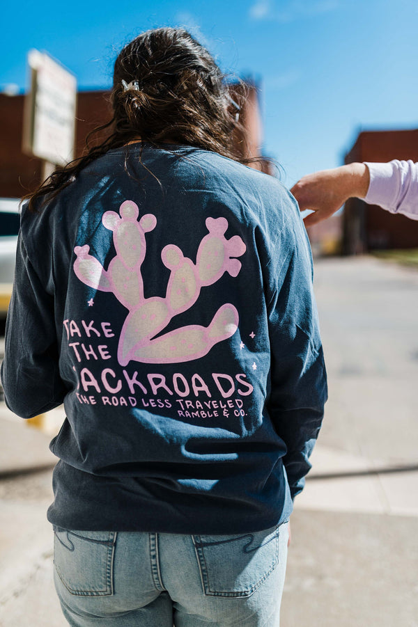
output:
[[[418,627],[418,471],[408,470],[418,466],[418,272],[323,260],[316,297],[330,399],[295,502],[281,624]]]

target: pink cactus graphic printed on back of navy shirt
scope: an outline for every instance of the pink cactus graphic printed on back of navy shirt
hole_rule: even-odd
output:
[[[102,292],[112,292],[128,310],[118,344],[118,362],[179,363],[203,357],[217,344],[231,338],[238,328],[238,311],[231,303],[220,307],[209,326],[183,326],[160,337],[171,319],[196,303],[202,287],[216,283],[224,272],[238,276],[241,262],[235,257],[245,253],[245,244],[235,235],[226,239],[225,218],[208,218],[208,235],[199,244],[196,264],[169,244],[161,253],[162,262],[171,271],[165,298],[144,298],[141,264],[146,256],[146,232],[157,220],[146,214],[138,221],[139,209],[125,200],[120,215],[108,211],[102,222],[114,234],[116,256],[104,270],[89,254],[89,246],[76,246],[74,271],[79,280]]]

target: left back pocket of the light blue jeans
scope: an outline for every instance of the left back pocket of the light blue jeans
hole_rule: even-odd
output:
[[[111,596],[117,532],[54,527],[54,565],[70,594]]]

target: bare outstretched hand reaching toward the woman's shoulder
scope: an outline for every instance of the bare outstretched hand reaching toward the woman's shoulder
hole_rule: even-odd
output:
[[[348,198],[364,198],[369,180],[369,168],[365,164],[349,164],[308,174],[293,185],[291,192],[301,211],[314,212],[304,219],[305,225],[311,226],[332,216]]]

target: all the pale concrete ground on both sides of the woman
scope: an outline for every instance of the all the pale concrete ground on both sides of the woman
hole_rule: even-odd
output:
[[[291,520],[281,625],[418,627],[418,273],[321,261],[316,295],[330,401]],[[49,439],[0,411],[0,470],[54,461]],[[65,627],[51,471],[0,482],[0,500],[0,626]]]

